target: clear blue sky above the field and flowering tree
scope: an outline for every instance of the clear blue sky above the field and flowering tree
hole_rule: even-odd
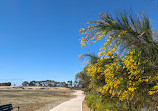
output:
[[[145,11],[154,28],[157,0],[1,0],[0,82],[74,80],[83,68],[78,30],[104,11]]]

